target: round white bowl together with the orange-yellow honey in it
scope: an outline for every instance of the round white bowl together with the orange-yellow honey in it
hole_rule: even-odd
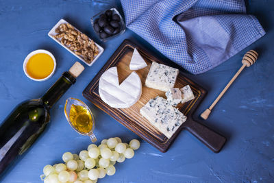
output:
[[[56,68],[53,54],[45,49],[32,51],[23,63],[23,70],[29,79],[42,82],[51,77]]]

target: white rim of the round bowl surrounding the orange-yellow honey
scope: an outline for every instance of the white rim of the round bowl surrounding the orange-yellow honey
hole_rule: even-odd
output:
[[[27,73],[27,69],[26,69],[27,62],[29,62],[29,58],[31,58],[32,56],[36,55],[37,53],[46,53],[47,55],[49,55],[49,56],[52,58],[53,63],[54,63],[52,72],[51,72],[47,77],[45,77],[45,78],[43,78],[43,79],[35,79],[35,78],[31,77],[31,76]],[[51,76],[54,74],[55,69],[56,69],[56,61],[55,61],[55,58],[54,58],[53,54],[51,54],[51,52],[49,52],[49,51],[47,51],[47,50],[45,50],[45,49],[38,49],[38,50],[36,50],[36,51],[32,51],[31,53],[29,53],[29,54],[27,55],[27,57],[25,58],[24,63],[23,63],[23,69],[24,69],[25,75],[27,75],[27,77],[29,77],[29,79],[34,80],[34,81],[36,81],[36,82],[43,82],[43,81],[45,81],[45,80],[48,80],[49,77],[51,77]]]

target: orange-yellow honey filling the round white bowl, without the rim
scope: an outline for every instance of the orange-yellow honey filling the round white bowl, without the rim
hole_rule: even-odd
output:
[[[47,53],[37,53],[27,61],[27,74],[36,79],[48,77],[54,68],[54,61]]]

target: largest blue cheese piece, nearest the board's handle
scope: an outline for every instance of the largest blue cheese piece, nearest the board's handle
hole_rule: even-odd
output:
[[[171,106],[163,97],[150,99],[140,109],[140,114],[167,138],[171,138],[179,126],[186,121],[184,114]]]

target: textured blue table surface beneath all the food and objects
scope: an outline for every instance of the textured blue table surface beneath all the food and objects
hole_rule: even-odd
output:
[[[0,123],[19,102],[40,97],[79,61],[47,36],[60,19],[66,19],[105,48],[99,60],[86,66],[76,84],[55,104],[47,130],[1,175],[0,182],[41,182],[40,174],[46,164],[62,162],[66,151],[79,153],[86,149],[90,139],[77,134],[64,117],[68,97],[82,99],[90,106],[99,142],[114,136],[127,142],[138,138],[82,96],[84,88],[126,38],[166,59],[129,29],[105,43],[96,38],[90,17],[114,6],[122,12],[119,1],[110,0],[0,0]],[[249,0],[247,12],[258,17],[266,35],[207,73],[186,73],[208,89],[208,96],[195,112],[195,117],[199,117],[241,66],[244,53],[249,49],[260,53],[258,62],[242,71],[210,118],[201,120],[227,137],[223,150],[214,154],[188,132],[181,132],[166,153],[140,141],[134,158],[116,164],[116,174],[99,182],[274,182],[274,1]],[[23,72],[25,56],[36,49],[51,51],[57,60],[55,74],[45,82],[29,80]]]

